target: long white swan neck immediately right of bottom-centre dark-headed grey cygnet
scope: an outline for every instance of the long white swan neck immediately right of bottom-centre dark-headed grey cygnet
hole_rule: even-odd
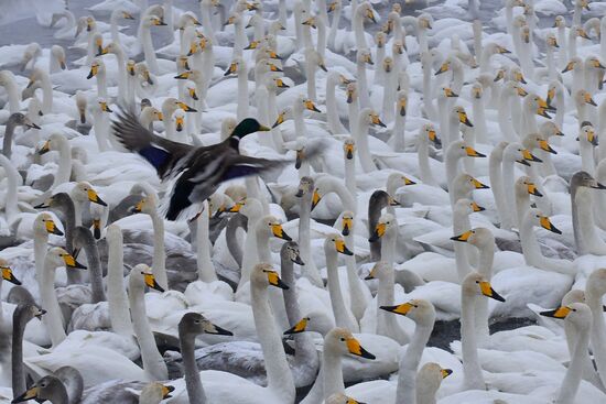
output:
[[[282,340],[275,328],[275,321],[271,316],[268,297],[267,286],[258,285],[256,282],[250,283],[252,315],[255,316],[255,327],[266,360],[268,390],[281,403],[292,403],[295,395],[294,381],[286,362]]]

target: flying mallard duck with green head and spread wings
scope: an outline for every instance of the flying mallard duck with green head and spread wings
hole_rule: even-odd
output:
[[[221,143],[202,148],[161,138],[143,128],[131,112],[119,113],[112,128],[129,151],[139,153],[155,167],[161,179],[175,179],[166,209],[169,220],[177,219],[192,204],[204,201],[227,179],[259,174],[288,163],[240,155],[241,138],[270,130],[252,118],[238,123]]]

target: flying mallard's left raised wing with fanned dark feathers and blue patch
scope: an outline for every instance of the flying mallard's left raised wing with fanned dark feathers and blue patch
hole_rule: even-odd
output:
[[[194,149],[150,132],[131,111],[122,110],[117,116],[118,119],[111,122],[116,138],[127,150],[138,153],[153,165],[162,179]]]

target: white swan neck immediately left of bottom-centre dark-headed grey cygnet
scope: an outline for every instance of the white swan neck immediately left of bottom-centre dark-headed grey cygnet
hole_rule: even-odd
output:
[[[141,348],[143,370],[145,373],[150,374],[153,380],[166,380],[169,378],[169,370],[166,369],[166,363],[164,363],[162,356],[155,347],[155,340],[148,321],[142,275],[133,273],[132,271],[129,276],[128,297],[130,303],[132,328],[134,329],[139,347]]]

